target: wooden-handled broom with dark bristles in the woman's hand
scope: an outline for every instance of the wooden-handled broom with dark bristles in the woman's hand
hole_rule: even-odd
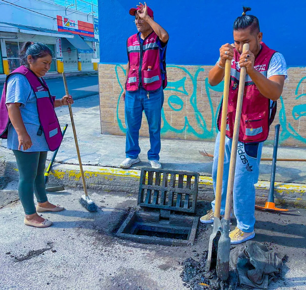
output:
[[[64,80],[64,86],[65,86],[66,95],[68,96],[69,95],[69,91],[68,91],[68,85],[67,85],[67,80],[66,80],[65,72],[63,72],[63,80]],[[75,141],[75,144],[76,144],[76,153],[77,153],[77,157],[78,157],[79,164],[80,164],[80,171],[81,171],[82,182],[83,182],[84,193],[85,193],[80,198],[80,204],[83,207],[85,207],[88,211],[96,211],[97,210],[97,206],[89,198],[88,193],[87,193],[87,188],[86,188],[86,183],[85,183],[85,176],[84,176],[82,160],[81,160],[81,155],[80,155],[80,149],[79,149],[79,144],[78,144],[77,137],[76,137],[76,128],[75,128],[75,125],[74,125],[73,113],[72,113],[72,109],[71,109],[70,103],[68,103],[68,107],[69,107],[69,113],[70,113],[72,130],[73,130],[73,137],[74,137],[74,141]]]

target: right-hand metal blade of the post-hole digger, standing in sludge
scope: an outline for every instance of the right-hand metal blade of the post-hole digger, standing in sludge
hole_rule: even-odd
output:
[[[230,270],[230,220],[222,219],[222,232],[218,242],[217,276],[225,281],[229,277]]]

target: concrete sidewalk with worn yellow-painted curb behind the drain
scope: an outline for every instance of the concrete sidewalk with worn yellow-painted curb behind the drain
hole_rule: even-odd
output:
[[[86,100],[86,99],[85,99]],[[80,100],[81,101],[81,100]],[[84,100],[83,100],[84,102]],[[100,112],[95,97],[88,98],[85,108],[75,104],[74,121],[79,141],[82,163],[86,171],[88,186],[95,189],[107,189],[137,192],[140,169],[149,166],[147,151],[149,150],[148,138],[140,138],[141,163],[128,170],[118,169],[119,164],[125,159],[125,137],[101,134]],[[91,107],[91,104],[93,107]],[[70,124],[68,108],[57,108],[58,119],[63,125]],[[0,141],[1,142],[1,141]],[[205,149],[208,153],[214,152],[213,142],[162,140],[160,161],[164,169],[199,172],[200,198],[211,200],[212,191],[212,158],[203,157],[199,150]],[[3,147],[6,141],[2,140],[0,160],[2,160],[3,174],[9,177],[17,176],[17,167],[14,156],[10,150]],[[272,146],[263,148],[262,157],[271,157]],[[52,152],[49,152],[50,159]],[[279,158],[303,158],[306,157],[306,149],[280,147]],[[71,126],[65,134],[65,138],[56,157],[57,163],[53,166],[53,176],[50,182],[61,183],[69,186],[81,186],[78,160]],[[260,182],[256,185],[257,201],[266,200],[271,174],[271,162],[263,161],[260,165]],[[278,162],[276,169],[276,194],[281,203],[289,203],[295,206],[306,205],[306,162]],[[201,195],[202,194],[202,195]]]

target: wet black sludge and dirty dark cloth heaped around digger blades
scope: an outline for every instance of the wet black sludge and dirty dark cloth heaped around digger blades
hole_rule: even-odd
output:
[[[247,241],[230,252],[230,273],[227,281],[218,279],[216,270],[205,271],[207,251],[199,261],[188,258],[181,273],[185,286],[193,290],[234,290],[238,285],[267,289],[271,281],[280,278],[286,255],[268,250],[263,244]]]

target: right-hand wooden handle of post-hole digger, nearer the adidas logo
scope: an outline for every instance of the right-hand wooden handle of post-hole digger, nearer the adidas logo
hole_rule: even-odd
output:
[[[243,45],[242,53],[244,53],[248,49],[249,49],[249,45],[248,45],[248,43],[245,43]],[[245,83],[246,73],[247,73],[246,67],[242,67],[240,69],[238,99],[237,99],[236,116],[235,116],[235,123],[234,123],[232,150],[231,150],[231,154],[230,154],[230,171],[229,171],[229,179],[228,179],[227,191],[226,191],[226,204],[225,204],[224,218],[227,219],[227,220],[230,219],[230,210],[231,210],[232,200],[233,200],[233,188],[234,188],[236,157],[237,157],[237,144],[238,144],[238,137],[239,137],[241,108],[242,108],[244,83]]]

